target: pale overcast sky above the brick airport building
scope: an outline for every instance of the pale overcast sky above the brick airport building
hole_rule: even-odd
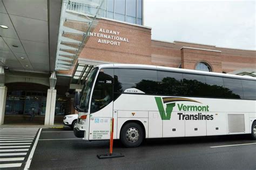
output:
[[[256,50],[256,0],[145,0],[152,39]]]

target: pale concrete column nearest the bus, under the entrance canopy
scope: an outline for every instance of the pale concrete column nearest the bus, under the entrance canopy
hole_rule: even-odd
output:
[[[44,125],[54,124],[56,93],[57,91],[55,89],[48,89]]]

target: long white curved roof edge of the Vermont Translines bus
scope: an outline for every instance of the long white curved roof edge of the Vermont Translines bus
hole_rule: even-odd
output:
[[[173,71],[173,72],[180,72],[180,73],[201,74],[201,75],[207,75],[207,76],[219,76],[219,77],[227,77],[227,78],[256,80],[256,78],[254,77],[239,76],[234,74],[224,74],[224,73],[189,70],[189,69],[178,69],[174,67],[143,65],[143,64],[103,64],[103,65],[98,65],[98,67],[99,69],[145,69],[145,70]]]

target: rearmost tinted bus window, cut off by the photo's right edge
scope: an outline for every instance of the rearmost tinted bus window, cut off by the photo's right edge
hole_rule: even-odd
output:
[[[242,89],[244,89],[244,98],[256,100],[256,81],[242,80]]]

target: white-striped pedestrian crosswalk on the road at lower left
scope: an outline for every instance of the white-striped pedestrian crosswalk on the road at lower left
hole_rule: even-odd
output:
[[[0,128],[0,169],[23,169],[38,141],[37,132],[38,128]]]

